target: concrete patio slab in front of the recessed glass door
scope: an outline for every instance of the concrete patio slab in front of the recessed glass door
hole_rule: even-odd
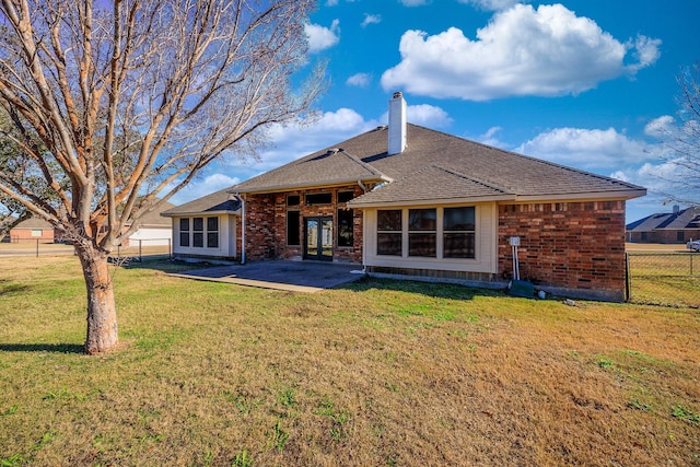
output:
[[[358,280],[364,273],[361,265],[353,264],[271,260],[195,269],[171,276],[293,292],[318,292]]]

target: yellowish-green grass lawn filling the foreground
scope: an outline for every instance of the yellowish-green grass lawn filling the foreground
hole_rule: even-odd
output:
[[[700,465],[700,311],[363,280],[316,294],[0,259],[0,465]]]

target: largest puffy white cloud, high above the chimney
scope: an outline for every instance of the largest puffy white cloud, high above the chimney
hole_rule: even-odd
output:
[[[384,72],[382,85],[471,101],[579,94],[653,63],[660,44],[642,36],[622,44],[561,4],[516,4],[495,13],[476,40],[456,27],[433,36],[407,31],[401,61]],[[638,61],[627,65],[630,51]]]

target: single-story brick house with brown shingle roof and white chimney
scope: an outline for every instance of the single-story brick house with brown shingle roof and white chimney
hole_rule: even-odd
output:
[[[164,213],[174,254],[332,260],[369,275],[625,300],[625,201],[635,185],[406,121],[320,149]]]

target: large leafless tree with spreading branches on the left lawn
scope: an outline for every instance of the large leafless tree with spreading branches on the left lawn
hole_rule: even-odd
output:
[[[255,156],[267,127],[310,109],[323,70],[292,85],[312,3],[0,0],[0,106],[13,124],[2,136],[42,180],[5,163],[0,194],[73,242],[86,353],[118,342],[107,257],[136,221],[217,157]]]

